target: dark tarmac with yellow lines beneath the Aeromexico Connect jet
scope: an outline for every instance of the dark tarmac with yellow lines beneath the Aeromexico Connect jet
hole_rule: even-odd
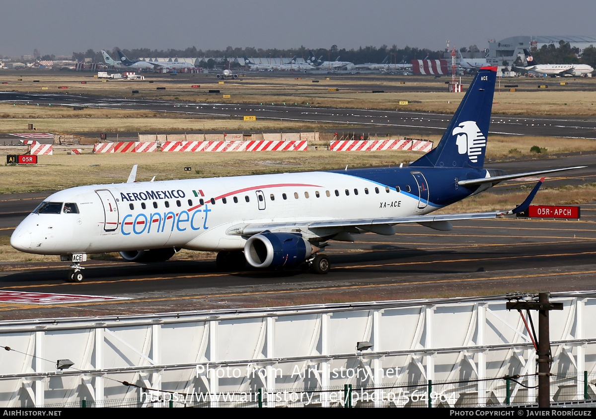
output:
[[[582,208],[587,220],[596,204]],[[596,289],[596,231],[589,221],[498,219],[458,222],[452,232],[400,225],[398,234],[333,242],[327,275],[220,272],[215,260],[144,265],[122,259],[85,264],[85,282],[66,282],[60,262],[4,263],[6,319],[176,312],[321,302],[476,296]],[[126,300],[7,303],[6,291],[124,297]]]

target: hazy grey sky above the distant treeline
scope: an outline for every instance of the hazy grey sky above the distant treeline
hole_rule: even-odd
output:
[[[1,1],[0,54],[89,48],[488,47],[516,35],[596,36],[596,1]]]

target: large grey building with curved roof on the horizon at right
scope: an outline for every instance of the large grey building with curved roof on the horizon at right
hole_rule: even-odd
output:
[[[512,36],[501,41],[489,40],[489,53],[486,60],[496,66],[511,66],[518,54],[523,55],[524,48],[531,51],[542,48],[542,45],[558,46],[561,40],[569,42],[573,48],[579,48],[580,53],[590,45],[596,46],[595,36]]]

